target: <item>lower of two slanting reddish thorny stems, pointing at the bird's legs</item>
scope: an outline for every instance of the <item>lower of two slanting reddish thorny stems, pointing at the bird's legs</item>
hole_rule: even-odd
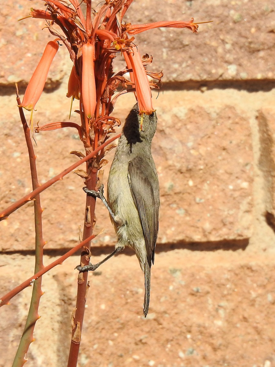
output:
[[[76,245],[74,248],[72,248],[71,250],[69,250],[68,252],[66,252],[65,255],[61,256],[59,259],[51,262],[51,264],[44,266],[43,269],[41,269],[39,272],[35,273],[33,276],[31,276],[29,279],[23,281],[23,283],[19,284],[19,286],[15,287],[14,289],[12,289],[10,292],[8,292],[7,294],[5,294],[1,299],[0,299],[0,307],[4,306],[4,305],[8,305],[10,300],[17,295],[19,292],[21,292],[23,289],[30,287],[33,285],[34,280],[39,279],[43,274],[47,273],[49,270],[51,270],[52,268],[54,268],[56,265],[61,265],[63,263],[64,260],[66,260],[68,257],[72,256],[76,251],[78,251],[81,247],[85,246],[89,241],[91,241],[92,239],[94,239],[96,237],[96,235],[92,235],[90,237],[88,237],[86,240],[78,243],[78,245]]]

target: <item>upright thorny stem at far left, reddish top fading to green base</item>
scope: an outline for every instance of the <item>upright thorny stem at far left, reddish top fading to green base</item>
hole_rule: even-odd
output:
[[[17,103],[21,105],[21,101],[18,93],[18,86],[16,84],[16,93],[17,93]],[[30,172],[32,177],[32,186],[33,190],[39,187],[38,178],[37,178],[37,170],[36,170],[36,155],[34,154],[32,140],[30,138],[30,128],[27,126],[27,121],[25,119],[22,107],[19,107],[19,113],[21,117],[21,121],[23,124],[23,129],[25,133],[25,139],[27,143],[27,148],[29,152],[30,159]],[[43,266],[43,233],[42,233],[42,208],[40,205],[40,195],[37,194],[34,197],[34,226],[35,226],[35,268],[34,272],[37,273],[39,270],[44,268]],[[39,319],[38,315],[38,306],[40,302],[40,298],[43,295],[41,290],[41,282],[42,278],[40,277],[37,282],[33,285],[32,299],[30,301],[29,313],[27,316],[25,328],[22,334],[22,337],[19,342],[19,346],[14,357],[14,361],[12,367],[23,366],[26,362],[25,355],[29,349],[30,343],[33,342],[33,330],[36,324],[36,321]]]

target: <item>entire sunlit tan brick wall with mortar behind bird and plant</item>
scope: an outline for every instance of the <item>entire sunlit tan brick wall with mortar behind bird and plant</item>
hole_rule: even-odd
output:
[[[48,40],[41,19],[19,18],[43,1],[9,1],[0,13],[0,209],[31,191],[29,160],[14,82],[25,87]],[[96,4],[95,4],[96,6]],[[275,3],[273,0],[135,0],[127,22],[213,20],[198,34],[154,29],[136,36],[140,52],[163,70],[153,92],[153,140],[161,194],[150,309],[143,317],[143,274],[124,251],[89,276],[79,366],[275,366]],[[122,66],[117,58],[115,70]],[[68,121],[72,67],[60,47],[34,120]],[[122,123],[135,103],[118,99]],[[77,109],[77,104],[74,105]],[[71,121],[78,122],[73,113]],[[119,129],[118,129],[119,130]],[[76,131],[35,135],[39,180],[46,182],[84,152]],[[114,152],[106,159],[111,163]],[[110,163],[105,167],[107,182]],[[83,180],[73,173],[41,194],[45,265],[78,243]],[[96,204],[93,262],[113,250],[115,233]],[[34,268],[33,203],[0,222],[0,298]],[[43,277],[26,366],[66,366],[79,254]],[[14,270],[15,269],[15,270]],[[10,366],[32,288],[0,309],[0,366]]]

